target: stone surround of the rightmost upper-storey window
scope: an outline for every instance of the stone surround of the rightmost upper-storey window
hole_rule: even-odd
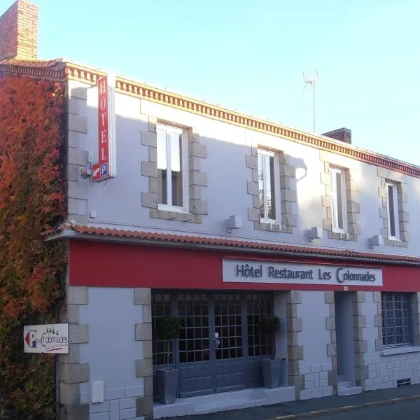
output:
[[[378,188],[378,195],[382,202],[381,207],[379,207],[379,217],[384,221],[384,228],[381,228],[384,245],[402,246],[407,248],[411,239],[408,232],[409,213],[407,212],[407,183],[401,180],[396,181],[401,177],[390,169],[377,167],[377,174],[381,181],[381,186]],[[386,183],[393,183],[397,187],[400,240],[388,239],[388,198],[386,197]]]

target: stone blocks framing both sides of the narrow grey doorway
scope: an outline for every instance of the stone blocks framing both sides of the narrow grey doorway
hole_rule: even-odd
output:
[[[364,388],[369,370],[365,365],[364,353],[367,351],[367,340],[363,339],[366,328],[366,316],[363,315],[362,304],[365,292],[353,293],[353,341],[355,361],[355,385]],[[332,370],[328,372],[328,385],[332,386],[333,395],[338,394],[337,367],[337,330],[335,322],[335,295],[333,290],[325,290],[325,303],[329,305],[330,316],[325,317],[325,329],[330,331],[330,343],[327,344],[327,356],[331,358]]]

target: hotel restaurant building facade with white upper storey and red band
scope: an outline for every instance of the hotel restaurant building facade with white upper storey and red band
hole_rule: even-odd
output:
[[[346,129],[308,134],[73,62],[1,66],[68,85],[68,218],[45,235],[69,246],[63,418],[420,382],[420,167],[352,146]],[[160,405],[167,314],[182,320],[180,375]],[[267,314],[281,318],[274,341]],[[264,388],[272,353],[284,368]]]

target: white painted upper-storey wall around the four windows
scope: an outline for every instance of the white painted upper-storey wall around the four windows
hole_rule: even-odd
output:
[[[87,89],[87,85],[73,80],[69,81],[69,85],[70,92],[78,96],[83,90],[87,92],[87,101],[72,98],[73,106],[70,109],[78,114],[76,118],[79,121],[85,119],[87,125],[87,133],[71,132],[71,153],[76,153],[78,165],[83,165],[85,151],[89,151],[97,160],[96,88]],[[116,114],[117,178],[92,183],[81,179],[79,174],[78,181],[71,182],[70,213],[78,221],[294,244],[307,244],[304,230],[322,225],[325,217],[325,209],[321,207],[323,163],[318,149],[120,93],[116,94]],[[151,219],[149,209],[141,206],[141,192],[148,191],[148,178],[141,176],[141,161],[148,160],[148,147],[141,145],[141,131],[148,130],[148,116],[193,127],[207,146],[208,158],[202,160],[202,171],[208,174],[208,187],[202,188],[202,195],[203,200],[209,203],[209,215],[203,216],[202,224]],[[278,148],[297,168],[297,203],[293,206],[297,228],[293,228],[291,235],[254,230],[253,222],[248,221],[247,210],[252,206],[252,197],[246,193],[246,181],[251,180],[251,169],[246,168],[245,155],[251,153],[251,145],[256,144]],[[377,168],[344,156],[330,155],[332,162],[352,169],[354,176],[360,179],[358,223],[362,235],[357,242],[352,242],[328,239],[324,233],[324,238],[314,241],[314,245],[369,250],[369,237],[379,235],[383,227],[383,221],[379,218],[381,199],[378,197],[380,179]],[[79,172],[80,169],[81,166],[78,167]],[[416,254],[420,237],[414,235],[414,228],[411,227],[420,223],[420,212],[416,211],[420,204],[420,180],[397,173],[395,179],[407,182],[412,242],[408,249],[383,246],[375,248],[375,251]],[[90,211],[96,212],[96,218],[88,217]],[[242,216],[243,228],[228,234],[225,220],[232,214]]]

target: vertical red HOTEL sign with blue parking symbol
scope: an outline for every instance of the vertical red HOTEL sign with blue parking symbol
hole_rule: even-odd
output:
[[[117,174],[115,86],[115,78],[109,75],[97,81],[99,160],[92,165],[94,182],[115,178]]]

